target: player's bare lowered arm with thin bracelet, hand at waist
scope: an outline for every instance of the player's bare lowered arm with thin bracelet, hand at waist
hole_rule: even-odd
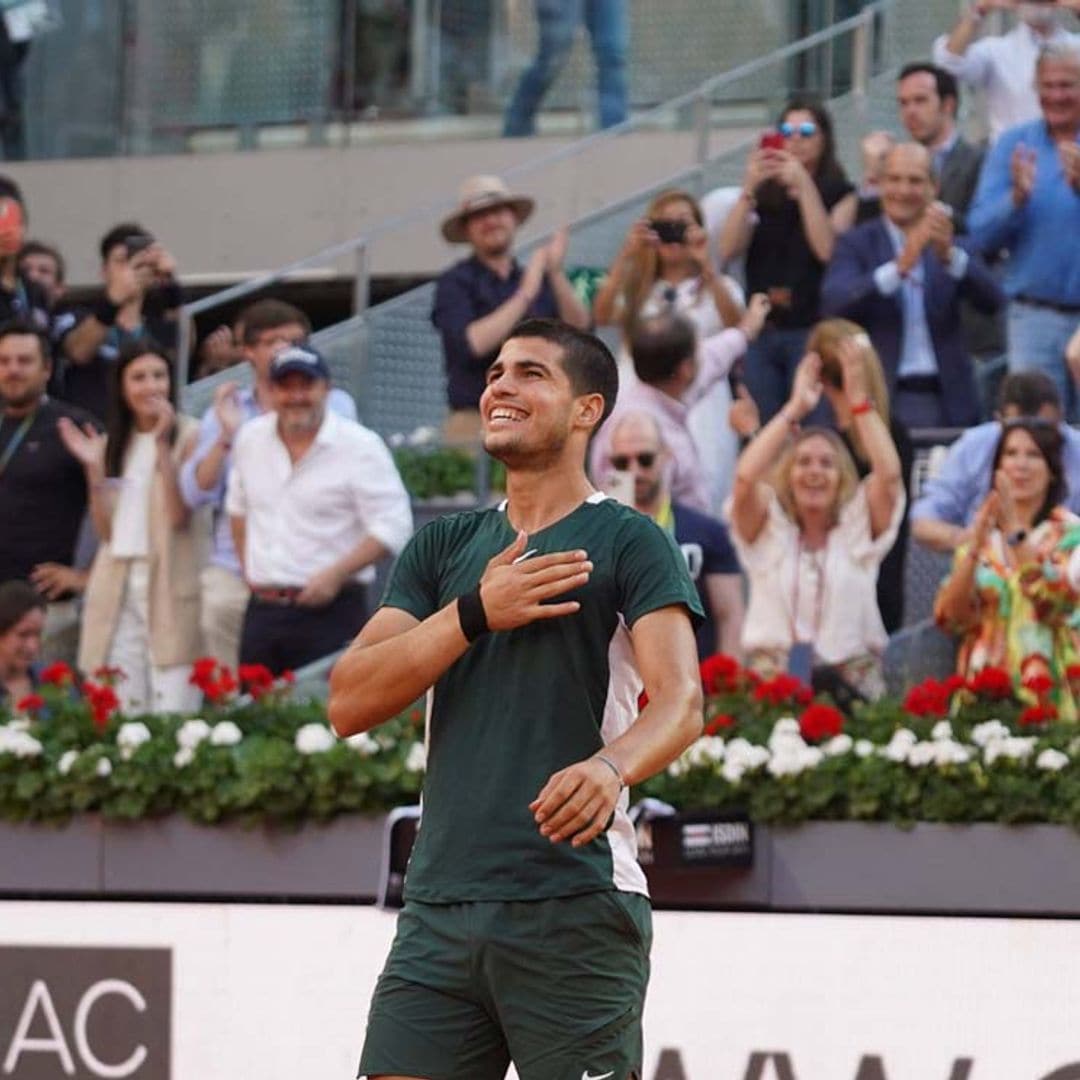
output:
[[[595,839],[607,827],[623,784],[648,780],[701,734],[701,676],[686,608],[673,605],[642,616],[631,639],[649,703],[618,739],[561,769],[529,804],[541,835],[553,843],[569,839],[579,848]]]

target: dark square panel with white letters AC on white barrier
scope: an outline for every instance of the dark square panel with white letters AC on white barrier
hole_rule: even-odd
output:
[[[172,950],[0,946],[0,1077],[171,1080]]]

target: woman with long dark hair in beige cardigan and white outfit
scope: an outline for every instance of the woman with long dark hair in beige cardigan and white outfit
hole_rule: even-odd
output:
[[[199,570],[206,529],[180,498],[177,474],[198,421],[178,417],[172,365],[152,342],[124,346],[112,370],[107,433],[60,421],[82,462],[100,546],[90,571],[79,666],[120,667],[125,712],[194,707]]]

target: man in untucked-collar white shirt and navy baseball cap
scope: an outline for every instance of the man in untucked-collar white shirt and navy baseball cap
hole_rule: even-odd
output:
[[[355,636],[375,564],[402,550],[413,514],[382,440],[326,408],[314,349],[279,352],[270,381],[273,411],[237,435],[226,510],[252,590],[240,662],[276,674]]]

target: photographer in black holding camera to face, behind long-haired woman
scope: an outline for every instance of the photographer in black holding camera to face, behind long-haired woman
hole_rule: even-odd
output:
[[[67,316],[67,367],[59,396],[104,420],[108,373],[121,346],[150,338],[172,357],[183,297],[176,260],[140,225],[111,228],[102,238],[100,252],[105,293],[89,309]]]

